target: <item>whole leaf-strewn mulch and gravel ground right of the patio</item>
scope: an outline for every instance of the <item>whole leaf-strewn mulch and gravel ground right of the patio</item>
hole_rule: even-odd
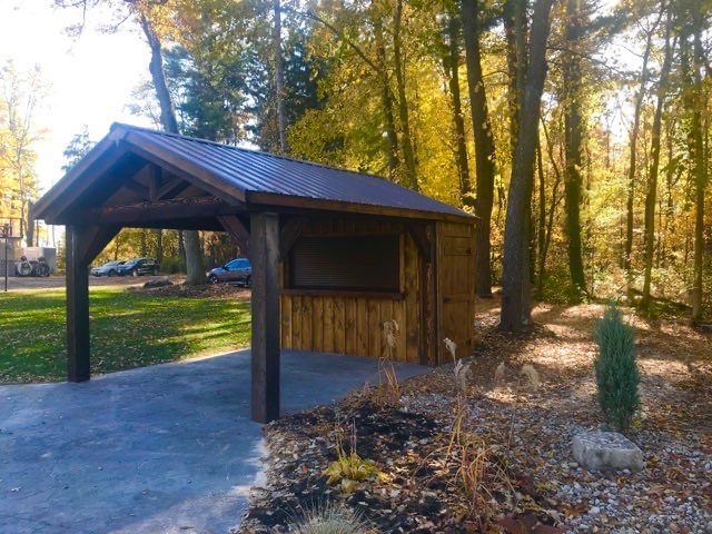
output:
[[[641,473],[589,473],[571,438],[601,425],[591,339],[601,307],[540,307],[523,336],[479,317],[469,364],[466,427],[487,446],[479,501],[463,491],[457,453],[446,454],[456,389],[453,365],[402,384],[399,402],[378,389],[265,427],[265,487],[255,488],[239,532],[288,532],[327,501],[362,511],[377,532],[712,533],[712,339],[681,322],[631,320],[639,330],[643,411],[629,437],[643,451]],[[505,379],[495,384],[504,363]],[[541,375],[523,385],[522,365]],[[387,476],[353,493],[328,484],[337,429]],[[348,451],[348,448],[346,448]],[[528,526],[527,526],[528,525]]]

